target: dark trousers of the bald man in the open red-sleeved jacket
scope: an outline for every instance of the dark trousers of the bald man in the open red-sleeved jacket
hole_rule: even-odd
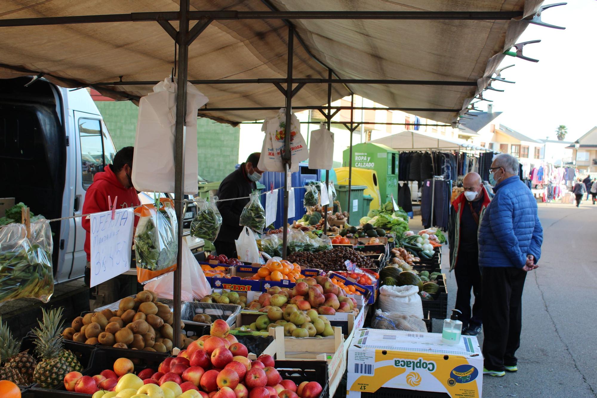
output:
[[[479,270],[479,255],[477,252],[458,253],[458,261],[454,267],[454,276],[458,290],[456,292],[456,309],[462,313],[458,317],[462,321],[462,330],[467,326],[481,326],[481,270]],[[470,289],[473,289],[475,303],[471,316]]]

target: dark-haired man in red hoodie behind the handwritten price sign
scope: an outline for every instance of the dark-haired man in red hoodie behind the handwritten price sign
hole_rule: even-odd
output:
[[[118,197],[116,207],[135,207],[141,203],[137,196],[137,191],[131,180],[133,173],[133,147],[126,146],[114,155],[112,164],[104,167],[104,171],[97,173],[93,178],[93,183],[87,188],[85,193],[85,202],[83,203],[83,214],[107,212],[108,196],[111,200]],[[90,283],[91,278],[91,241],[89,235],[90,220],[86,217],[81,222],[87,233],[85,234],[85,253],[87,253],[87,267],[85,267],[85,283]],[[90,309],[101,307],[118,301],[123,297],[123,290],[127,289],[129,278],[121,275],[116,278],[100,283],[91,288],[90,291]]]

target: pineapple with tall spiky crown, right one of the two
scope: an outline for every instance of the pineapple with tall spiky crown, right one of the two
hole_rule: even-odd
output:
[[[63,329],[63,308],[51,310],[49,313],[42,308],[43,322],[33,330],[37,340],[35,351],[42,359],[33,372],[33,381],[43,388],[55,388],[64,380],[69,372],[80,372],[82,366],[75,354],[64,350],[60,330]]]

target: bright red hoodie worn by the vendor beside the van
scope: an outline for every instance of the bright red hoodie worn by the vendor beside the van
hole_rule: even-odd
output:
[[[135,188],[124,188],[116,174],[110,169],[111,165],[104,167],[104,171],[97,173],[93,177],[93,183],[87,188],[85,194],[85,202],[83,203],[83,214],[107,212],[108,195],[112,200],[118,196],[118,203],[116,207],[121,209],[123,207],[139,206],[141,203],[137,196]],[[135,225],[137,224],[135,220]],[[87,261],[90,261],[91,242],[89,238],[90,219],[83,217],[81,225],[85,228],[85,253],[87,253]]]

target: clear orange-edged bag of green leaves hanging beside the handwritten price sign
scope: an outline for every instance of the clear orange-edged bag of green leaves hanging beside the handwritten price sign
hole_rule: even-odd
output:
[[[139,222],[133,237],[137,281],[147,283],[159,275],[176,270],[178,222],[174,204],[161,198],[161,207],[144,204],[135,209]]]

